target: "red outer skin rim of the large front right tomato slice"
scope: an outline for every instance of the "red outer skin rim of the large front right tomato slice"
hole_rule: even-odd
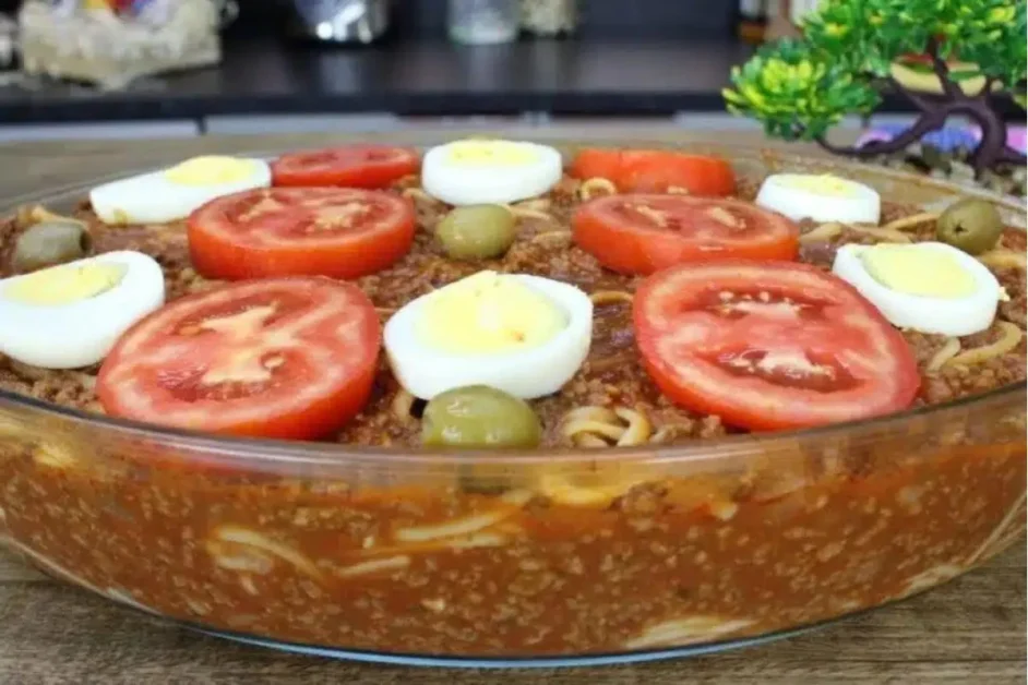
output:
[[[727,268],[743,268],[748,265],[753,266],[752,263],[731,260],[712,264],[712,266]],[[877,311],[877,309],[875,309],[871,302],[865,300],[856,288],[842,279],[837,278],[832,274],[824,273],[817,267],[809,264],[800,264],[794,262],[767,262],[760,264],[760,266],[772,271],[805,271],[821,278],[833,281],[834,287],[837,287],[840,291],[848,293],[849,305],[856,310],[859,310],[861,314],[866,316],[868,320],[876,326],[877,332],[882,336],[882,340],[885,345],[887,353],[897,360],[897,371],[893,376],[894,387],[892,393],[888,396],[877,397],[876,400],[878,401],[878,406],[870,411],[865,410],[864,407],[856,408],[857,411],[854,411],[854,414],[857,416],[850,420],[862,420],[885,416],[901,411],[910,406],[910,404],[917,397],[921,384],[921,376],[918,371],[917,359],[913,357],[910,346],[907,344],[906,339],[903,337],[899,331],[894,328],[892,324],[889,324],[888,321]],[[643,284],[636,290],[634,298],[633,323],[636,346],[639,350],[643,369],[646,371],[647,375],[649,375],[654,384],[660,389],[660,392],[681,407],[701,413],[719,416],[729,425],[741,426],[751,431],[794,430],[832,423],[832,421],[818,420],[816,410],[811,412],[802,409],[799,402],[804,398],[800,394],[796,394],[792,397],[791,401],[797,402],[793,406],[797,408],[797,411],[791,416],[784,414],[781,412],[778,412],[774,416],[768,416],[760,413],[758,411],[753,411],[745,406],[740,406],[738,401],[740,395],[738,393],[731,392],[731,389],[726,392],[724,395],[705,394],[703,392],[698,392],[694,387],[676,382],[677,374],[674,371],[674,365],[669,360],[664,359],[660,354],[657,353],[655,340],[660,334],[658,331],[655,331],[650,322],[647,321],[644,308],[641,305],[641,303],[645,302],[647,298],[652,297],[654,290],[660,287],[664,279],[672,276],[677,272],[691,268],[693,267],[688,264],[683,264],[668,268],[658,274],[654,274],[643,281]],[[756,345],[758,344],[760,341],[756,341]],[[768,386],[770,388],[777,387],[770,383],[768,383]],[[805,399],[809,400],[809,397]]]

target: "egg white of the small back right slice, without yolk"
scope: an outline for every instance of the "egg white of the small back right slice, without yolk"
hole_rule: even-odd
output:
[[[882,220],[882,197],[863,183],[841,179],[856,195],[826,195],[806,188],[785,185],[781,181],[805,173],[775,173],[764,179],[754,204],[777,212],[793,221],[840,221],[842,224],[874,224]]]

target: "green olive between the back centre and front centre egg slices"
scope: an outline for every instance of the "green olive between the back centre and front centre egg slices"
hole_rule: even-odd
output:
[[[489,260],[514,244],[514,215],[502,205],[456,207],[439,223],[435,235],[455,260]]]

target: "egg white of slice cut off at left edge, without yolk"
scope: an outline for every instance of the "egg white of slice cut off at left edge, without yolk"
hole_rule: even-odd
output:
[[[101,361],[132,324],[164,304],[164,273],[153,257],[107,252],[69,265],[84,264],[119,264],[125,273],[109,290],[55,305],[4,298],[8,287],[28,276],[0,280],[0,352],[43,369],[88,366]]]

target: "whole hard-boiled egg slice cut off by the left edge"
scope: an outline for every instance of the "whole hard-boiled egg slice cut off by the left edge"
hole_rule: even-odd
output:
[[[164,292],[160,265],[129,251],[2,279],[0,352],[44,369],[95,364]]]

